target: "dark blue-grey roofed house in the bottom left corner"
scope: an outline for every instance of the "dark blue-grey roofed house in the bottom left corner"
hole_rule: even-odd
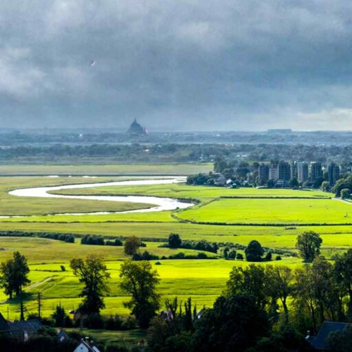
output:
[[[38,333],[39,330],[43,329],[43,325],[39,320],[23,320],[18,322],[9,322],[3,318],[0,313],[0,333],[8,334],[19,340],[28,340],[31,336]]]

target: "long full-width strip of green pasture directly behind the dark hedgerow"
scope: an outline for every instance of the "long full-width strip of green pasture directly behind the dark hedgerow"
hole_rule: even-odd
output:
[[[256,239],[265,247],[294,249],[296,237],[304,231],[318,232],[323,239],[322,248],[346,249],[352,247],[352,225],[336,226],[234,226],[201,225],[194,223],[0,223],[0,230],[33,232],[62,232],[74,234],[102,234],[104,236],[140,236],[167,239],[176,232],[182,239],[207,239],[213,242],[230,242],[248,245]],[[1,241],[1,237],[0,237]],[[79,241],[79,239],[76,239]],[[1,243],[1,242],[0,242]],[[60,243],[61,242],[54,242]],[[62,243],[62,245],[70,245]],[[2,245],[0,244],[0,247]],[[90,246],[91,247],[91,246]],[[90,248],[89,247],[89,248]],[[57,248],[57,247],[56,247]],[[111,250],[111,249],[109,249]],[[29,251],[30,252],[30,251]],[[1,256],[0,252],[0,256]],[[58,254],[59,256],[61,254]]]

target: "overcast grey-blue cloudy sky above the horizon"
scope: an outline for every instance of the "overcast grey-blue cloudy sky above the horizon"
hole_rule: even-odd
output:
[[[3,127],[352,130],[351,1],[0,3]]]

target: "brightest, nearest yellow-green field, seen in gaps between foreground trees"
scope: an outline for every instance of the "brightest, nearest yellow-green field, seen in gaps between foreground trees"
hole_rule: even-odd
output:
[[[228,274],[234,265],[248,265],[241,261],[218,260],[174,260],[161,261],[162,265],[155,265],[151,262],[159,273],[161,279],[159,293],[162,298],[173,298],[178,296],[180,300],[192,297],[198,307],[206,305],[210,307],[214,300],[221,294],[228,280]],[[122,305],[129,298],[124,295],[118,287],[120,281],[119,268],[121,262],[107,262],[107,267],[111,274],[109,282],[110,292],[105,298],[107,305],[102,314],[127,314],[128,310]],[[283,261],[273,261],[272,265],[286,264],[290,267],[302,265],[299,259],[284,259]],[[61,272],[60,265],[65,265],[66,272]],[[265,265],[263,263],[263,265]],[[42,311],[44,316],[50,316],[54,307],[61,303],[65,309],[77,308],[80,303],[78,293],[81,285],[72,274],[67,262],[30,265],[30,279],[32,283],[26,289],[28,299],[25,307],[28,312],[36,311],[36,293],[42,294]],[[18,318],[19,303],[14,300],[9,303],[6,297],[0,294],[0,311],[5,314],[9,307],[10,318]]]

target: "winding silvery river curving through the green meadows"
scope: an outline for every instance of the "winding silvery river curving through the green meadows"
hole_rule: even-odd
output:
[[[68,212],[54,215],[97,215],[97,214],[122,214],[126,212],[160,212],[163,210],[184,209],[192,206],[193,203],[186,203],[178,199],[164,198],[164,197],[150,197],[150,196],[114,196],[114,195],[54,195],[50,192],[54,190],[69,190],[78,188],[93,188],[104,186],[147,186],[153,184],[178,184],[186,181],[186,177],[173,177],[168,179],[139,179],[129,181],[109,181],[90,184],[71,184],[65,186],[47,186],[47,187],[33,187],[33,188],[19,188],[11,190],[10,195],[17,197],[40,197],[40,198],[68,198],[68,199],[90,199],[99,201],[128,201],[131,203],[146,203],[155,204],[151,208],[126,210],[122,212]],[[28,217],[32,217],[30,215]],[[1,218],[10,217],[25,217],[25,216],[2,216]]]

